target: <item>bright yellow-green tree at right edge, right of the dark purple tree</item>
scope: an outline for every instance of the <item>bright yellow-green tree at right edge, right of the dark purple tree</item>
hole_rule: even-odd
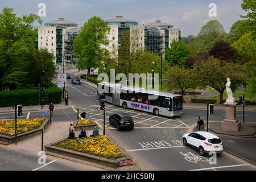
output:
[[[246,57],[250,57],[250,60],[256,59],[256,40],[252,38],[251,32],[241,36],[241,38],[237,40],[237,42],[234,42],[232,46],[237,49],[238,59],[240,59],[240,61]]]

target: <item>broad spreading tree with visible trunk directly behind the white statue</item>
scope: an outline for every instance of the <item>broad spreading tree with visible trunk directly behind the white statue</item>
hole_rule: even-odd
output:
[[[220,93],[220,103],[223,102],[223,94],[226,89],[226,79],[230,78],[233,92],[238,86],[245,85],[247,75],[240,64],[223,62],[214,57],[197,61],[194,64],[193,73],[197,84],[202,88],[211,86]]]

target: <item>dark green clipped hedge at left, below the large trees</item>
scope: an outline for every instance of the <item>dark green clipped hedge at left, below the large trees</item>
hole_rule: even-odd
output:
[[[62,90],[57,88],[55,84],[49,82],[45,85],[44,93],[52,92],[53,104],[61,102]],[[45,98],[44,98],[45,100]],[[36,89],[10,90],[0,92],[0,107],[10,107],[18,104],[24,106],[38,105],[39,92]],[[49,103],[45,103],[49,104]]]

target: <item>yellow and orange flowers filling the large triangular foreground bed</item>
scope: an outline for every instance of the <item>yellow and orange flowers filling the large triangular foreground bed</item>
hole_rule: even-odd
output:
[[[106,136],[83,139],[66,139],[54,144],[56,147],[101,156],[107,159],[123,158],[125,155]]]

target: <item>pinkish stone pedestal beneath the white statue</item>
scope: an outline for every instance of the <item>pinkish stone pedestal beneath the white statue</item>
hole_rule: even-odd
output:
[[[225,102],[226,118],[221,122],[221,129],[239,131],[242,127],[241,121],[237,119],[237,102]]]

